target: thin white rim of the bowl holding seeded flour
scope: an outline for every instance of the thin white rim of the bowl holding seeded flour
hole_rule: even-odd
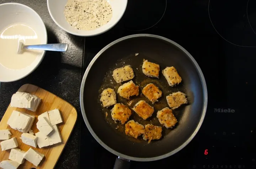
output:
[[[80,34],[80,33],[74,33],[74,32],[72,32],[72,31],[69,31],[69,30],[65,29],[64,27],[62,27],[62,26],[57,22],[57,20],[55,20],[55,18],[53,17],[53,14],[52,14],[52,12],[50,11],[50,8],[49,8],[49,1],[50,1],[50,0],[47,0],[48,12],[49,12],[50,17],[52,18],[52,20],[55,22],[55,24],[57,24],[58,27],[60,27],[61,29],[63,29],[63,30],[66,31],[67,33],[70,33],[70,34],[76,35],[76,36],[83,36],[83,37],[90,37],[90,36],[100,35],[100,34],[105,33],[106,31],[110,30],[111,28],[113,28],[113,27],[121,20],[121,18],[123,17],[124,12],[126,11],[126,8],[127,8],[127,3],[128,3],[128,0],[124,0],[124,2],[125,2],[125,8],[124,8],[124,10],[122,11],[122,14],[120,15],[120,17],[116,20],[116,23],[114,23],[111,27],[108,27],[108,28],[105,29],[104,31],[101,31],[101,32],[98,32],[98,33],[95,33],[95,34],[85,35],[85,34]]]

